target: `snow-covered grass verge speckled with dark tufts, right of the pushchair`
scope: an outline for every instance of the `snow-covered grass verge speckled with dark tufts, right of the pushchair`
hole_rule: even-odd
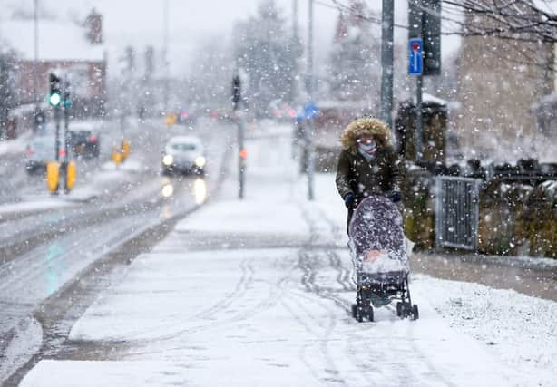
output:
[[[449,326],[519,371],[518,385],[557,385],[557,303],[424,275],[415,275],[412,285]]]

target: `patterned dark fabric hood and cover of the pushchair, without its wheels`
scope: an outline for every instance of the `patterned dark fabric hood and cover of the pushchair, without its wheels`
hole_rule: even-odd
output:
[[[409,273],[402,216],[389,199],[365,198],[354,211],[348,231],[358,275]]]

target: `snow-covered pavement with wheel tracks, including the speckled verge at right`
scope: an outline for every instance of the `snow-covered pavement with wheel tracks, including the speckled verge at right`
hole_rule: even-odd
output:
[[[557,384],[552,301],[420,275],[410,285],[419,320],[386,307],[375,323],[354,321],[334,177],[318,176],[308,203],[288,128],[259,131],[248,141],[247,198],[236,199],[230,173],[22,386]]]

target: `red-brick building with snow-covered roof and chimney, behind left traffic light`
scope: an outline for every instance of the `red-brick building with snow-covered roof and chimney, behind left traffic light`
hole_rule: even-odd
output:
[[[39,19],[36,62],[33,19],[4,20],[0,38],[17,53],[15,84],[20,104],[45,101],[49,73],[57,73],[70,84],[74,115],[103,114],[107,60],[102,15],[93,10],[83,23]]]

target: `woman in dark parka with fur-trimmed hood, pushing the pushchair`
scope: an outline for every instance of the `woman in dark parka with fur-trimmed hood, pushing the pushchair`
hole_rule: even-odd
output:
[[[391,146],[386,123],[359,118],[341,132],[340,142],[337,189],[348,208],[348,225],[357,204],[370,195],[383,195],[398,203],[400,161]]]

